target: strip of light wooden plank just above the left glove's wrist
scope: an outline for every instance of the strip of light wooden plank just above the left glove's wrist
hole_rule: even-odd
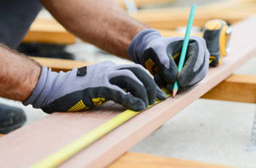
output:
[[[55,58],[42,58],[42,57],[31,57],[33,60],[37,61],[39,64],[46,67],[52,68],[55,72],[67,72],[74,67],[84,67],[91,65],[90,62],[85,61],[73,61],[73,60],[64,60],[64,59],[55,59]]]

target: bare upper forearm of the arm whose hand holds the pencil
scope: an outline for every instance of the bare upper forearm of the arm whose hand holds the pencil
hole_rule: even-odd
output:
[[[86,42],[128,58],[126,49],[147,28],[120,9],[113,0],[41,0],[56,20]]]

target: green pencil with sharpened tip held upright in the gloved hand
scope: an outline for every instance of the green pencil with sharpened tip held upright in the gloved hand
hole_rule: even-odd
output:
[[[183,41],[183,49],[182,49],[180,59],[179,59],[179,62],[178,62],[178,66],[177,66],[177,72],[181,72],[181,70],[183,68],[183,65],[184,65],[185,58],[186,58],[187,49],[188,49],[188,45],[189,45],[189,36],[190,36],[191,28],[192,28],[192,25],[193,25],[194,15],[195,15],[195,8],[196,8],[196,5],[194,4],[194,5],[191,6],[191,9],[190,9],[188,26],[187,26],[187,30],[186,30],[186,33],[185,33],[185,38],[184,38],[184,41]],[[172,89],[172,96],[173,97],[176,96],[177,89],[178,89],[178,84],[177,84],[177,81],[176,81],[174,83],[173,89]]]

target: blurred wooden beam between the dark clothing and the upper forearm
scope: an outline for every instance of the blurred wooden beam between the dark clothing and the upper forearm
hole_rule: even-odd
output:
[[[71,44],[76,38],[56,20],[35,20],[23,39],[25,43],[59,43]]]

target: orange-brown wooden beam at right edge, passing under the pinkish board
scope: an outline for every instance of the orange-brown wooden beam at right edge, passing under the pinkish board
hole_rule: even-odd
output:
[[[201,98],[256,103],[256,76],[231,75]]]

